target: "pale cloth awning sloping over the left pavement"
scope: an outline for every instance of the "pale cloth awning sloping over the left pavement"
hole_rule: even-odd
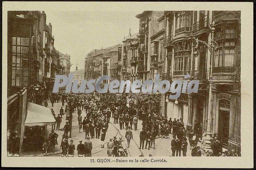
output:
[[[56,122],[50,108],[28,102],[28,114],[25,126],[45,126],[52,125]]]

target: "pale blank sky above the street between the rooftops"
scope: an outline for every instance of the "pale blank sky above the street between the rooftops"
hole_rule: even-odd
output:
[[[46,24],[52,24],[54,47],[70,54],[70,71],[84,69],[84,58],[93,49],[106,48],[122,42],[129,29],[139,32],[143,11],[53,11],[45,10]]]

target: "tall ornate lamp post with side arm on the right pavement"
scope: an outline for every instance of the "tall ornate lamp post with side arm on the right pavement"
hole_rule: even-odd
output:
[[[206,130],[206,141],[204,146],[204,152],[208,153],[211,151],[211,87],[212,87],[212,65],[213,65],[213,57],[214,57],[214,50],[217,49],[217,42],[213,40],[213,35],[215,31],[215,23],[214,21],[211,24],[211,40],[206,43],[204,41],[198,40],[198,38],[194,39],[196,40],[196,48],[198,46],[198,43],[201,42],[202,44],[205,44],[209,51],[211,52],[211,58],[210,58],[210,76],[209,76],[209,98],[208,98],[208,112],[207,112],[207,130]]]

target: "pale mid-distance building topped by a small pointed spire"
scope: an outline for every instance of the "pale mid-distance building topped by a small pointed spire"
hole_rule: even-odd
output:
[[[121,79],[132,80],[135,78],[137,70],[138,33],[132,35],[131,29],[127,37],[122,40],[121,57]]]

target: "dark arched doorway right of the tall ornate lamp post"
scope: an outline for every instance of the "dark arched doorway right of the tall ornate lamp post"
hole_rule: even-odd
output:
[[[225,148],[228,146],[230,101],[219,101],[219,138]]]

